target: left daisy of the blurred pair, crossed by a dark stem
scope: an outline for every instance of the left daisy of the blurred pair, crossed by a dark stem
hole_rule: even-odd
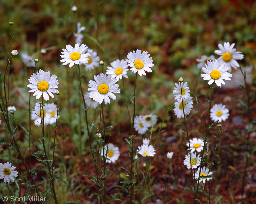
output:
[[[36,103],[34,109],[31,111],[31,119],[34,120],[34,124],[36,126],[41,125],[41,117],[43,116],[44,116],[44,124],[49,124],[50,116],[46,117],[45,108],[47,109],[47,103],[44,104],[43,108],[42,108],[42,105],[40,105],[39,103]]]

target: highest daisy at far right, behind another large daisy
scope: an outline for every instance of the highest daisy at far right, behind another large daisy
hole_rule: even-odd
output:
[[[224,43],[224,47],[219,44],[218,47],[220,50],[215,50],[214,52],[217,55],[221,55],[221,57],[218,58],[218,61],[222,64],[225,63],[227,67],[229,67],[229,72],[231,72],[231,67],[233,67],[235,70],[237,70],[237,67],[240,67],[236,60],[242,60],[244,58],[244,55],[241,54],[242,52],[236,52],[236,49],[234,47],[235,43],[232,43],[231,46],[229,42]]]

